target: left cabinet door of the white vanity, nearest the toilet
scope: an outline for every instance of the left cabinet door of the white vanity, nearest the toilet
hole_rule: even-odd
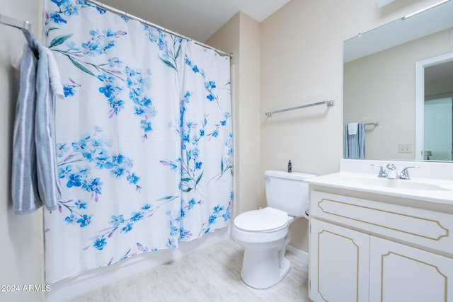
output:
[[[368,301],[369,236],[310,220],[310,286],[313,301]]]

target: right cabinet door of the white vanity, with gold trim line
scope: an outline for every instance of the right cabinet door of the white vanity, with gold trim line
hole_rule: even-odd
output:
[[[370,301],[453,302],[453,259],[370,238]]]

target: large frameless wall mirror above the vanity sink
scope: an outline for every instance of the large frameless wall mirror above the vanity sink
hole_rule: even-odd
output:
[[[344,42],[343,120],[367,124],[366,159],[452,161],[452,16],[444,1]]]

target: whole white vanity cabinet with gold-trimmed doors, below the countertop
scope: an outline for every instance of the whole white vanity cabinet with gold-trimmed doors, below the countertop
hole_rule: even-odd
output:
[[[452,213],[312,190],[309,296],[453,302],[452,231]]]

